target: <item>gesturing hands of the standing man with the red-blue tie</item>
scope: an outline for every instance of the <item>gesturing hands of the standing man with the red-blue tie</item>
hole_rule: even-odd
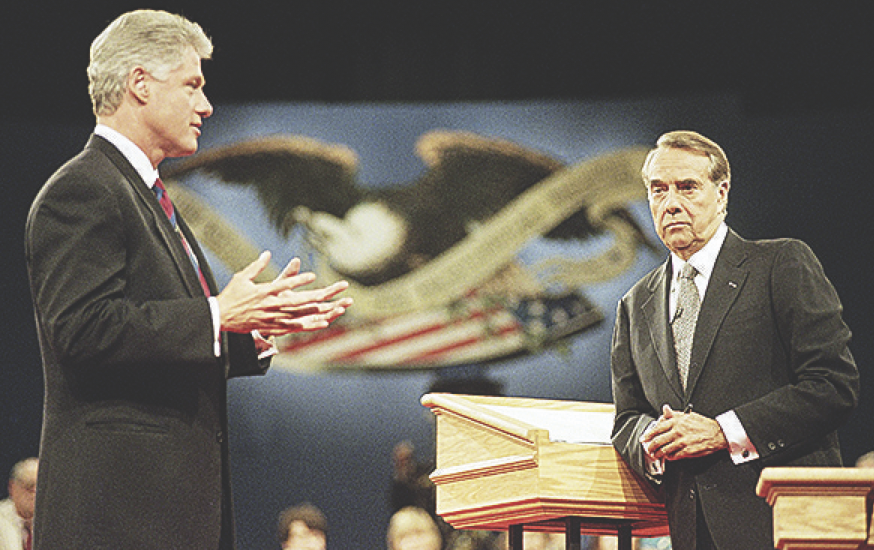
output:
[[[332,300],[349,287],[346,281],[299,290],[315,281],[316,276],[301,273],[298,258],[291,260],[273,282],[256,283],[255,278],[269,265],[270,256],[270,252],[262,252],[257,260],[236,273],[216,296],[223,331],[257,330],[262,336],[270,337],[319,330],[352,305],[351,298]]]

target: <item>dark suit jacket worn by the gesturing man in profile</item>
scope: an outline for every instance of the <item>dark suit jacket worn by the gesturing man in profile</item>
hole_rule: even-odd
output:
[[[215,292],[215,282],[194,236]],[[154,193],[92,136],[40,191],[26,253],[45,371],[37,549],[233,547],[223,334]]]

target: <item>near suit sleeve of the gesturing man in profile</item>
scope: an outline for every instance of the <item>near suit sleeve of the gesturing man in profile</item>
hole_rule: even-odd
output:
[[[57,361],[215,363],[208,302],[169,284],[178,280],[172,266],[144,250],[157,242],[146,219],[128,183],[108,170],[62,171],[37,197],[27,259],[45,352]]]

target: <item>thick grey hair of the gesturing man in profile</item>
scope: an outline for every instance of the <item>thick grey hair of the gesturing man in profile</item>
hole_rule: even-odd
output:
[[[200,25],[181,15],[137,10],[119,16],[91,43],[88,93],[94,114],[118,109],[134,67],[164,78],[182,64],[189,47],[201,59],[212,55],[212,42]]]

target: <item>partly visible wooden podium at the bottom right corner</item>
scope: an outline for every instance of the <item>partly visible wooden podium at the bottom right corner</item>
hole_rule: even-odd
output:
[[[874,548],[874,469],[765,468],[756,492],[774,509],[780,550]]]

